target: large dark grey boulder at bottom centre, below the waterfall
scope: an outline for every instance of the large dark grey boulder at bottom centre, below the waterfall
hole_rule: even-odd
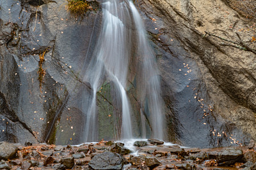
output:
[[[118,153],[104,152],[95,155],[89,162],[92,169],[122,169],[124,158]]]

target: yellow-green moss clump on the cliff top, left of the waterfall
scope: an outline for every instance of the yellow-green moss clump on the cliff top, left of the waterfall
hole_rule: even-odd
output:
[[[86,0],[68,0],[67,10],[75,17],[84,15],[89,8]]]

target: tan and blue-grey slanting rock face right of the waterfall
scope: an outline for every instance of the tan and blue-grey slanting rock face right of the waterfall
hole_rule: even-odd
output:
[[[252,30],[239,31],[252,24],[227,2],[136,1],[156,48],[169,139],[186,146],[248,145],[256,138],[256,55],[203,38],[207,31],[240,41],[238,33],[252,46]]]

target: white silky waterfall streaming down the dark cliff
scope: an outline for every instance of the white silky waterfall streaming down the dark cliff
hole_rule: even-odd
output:
[[[86,114],[84,141],[97,141],[97,91],[108,81],[115,86],[116,101],[122,106],[121,132],[118,138],[150,137],[163,139],[163,113],[160,83],[156,59],[145,37],[140,14],[127,0],[102,3],[102,30],[100,31],[92,59],[86,66],[83,81],[92,90],[84,92],[83,111]],[[140,101],[140,127],[134,127],[133,111],[127,96],[127,77],[131,60],[136,62],[136,87]],[[147,110],[147,111],[146,111]],[[147,132],[146,120],[151,132]],[[134,130],[135,129],[135,130]],[[140,134],[134,131],[141,129]],[[138,134],[138,133],[137,133]]]

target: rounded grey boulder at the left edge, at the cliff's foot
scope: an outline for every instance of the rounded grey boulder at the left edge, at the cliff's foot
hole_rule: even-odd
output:
[[[18,148],[14,146],[12,143],[2,142],[0,143],[0,160],[8,160],[15,157]]]

